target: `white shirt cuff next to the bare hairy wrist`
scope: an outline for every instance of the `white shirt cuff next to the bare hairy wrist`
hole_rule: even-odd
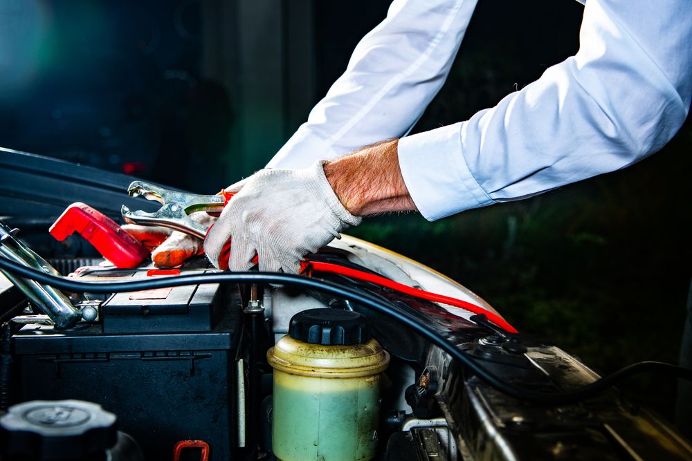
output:
[[[429,221],[495,203],[462,153],[463,122],[399,140],[399,167],[418,211]]]

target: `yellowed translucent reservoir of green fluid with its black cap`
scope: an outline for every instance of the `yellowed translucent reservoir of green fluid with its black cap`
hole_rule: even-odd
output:
[[[295,314],[268,350],[274,368],[272,449],[282,461],[374,458],[389,354],[365,317],[338,309]]]

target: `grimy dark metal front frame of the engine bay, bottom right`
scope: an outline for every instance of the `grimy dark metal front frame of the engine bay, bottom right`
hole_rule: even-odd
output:
[[[487,338],[476,341],[488,346]],[[465,348],[471,344],[464,344]],[[574,389],[598,379],[593,370],[556,346],[524,341],[527,364],[483,359],[484,366],[521,386]],[[504,350],[502,345],[495,346]],[[491,356],[488,356],[491,357]],[[428,368],[441,379],[435,395],[455,433],[462,459],[477,460],[690,460],[692,448],[658,417],[617,391],[561,406],[528,405],[464,377],[446,353],[433,347]]]

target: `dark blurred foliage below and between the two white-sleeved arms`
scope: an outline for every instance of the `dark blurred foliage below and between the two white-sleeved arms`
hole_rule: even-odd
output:
[[[525,3],[509,3],[502,3],[515,8],[507,15],[479,3],[448,82],[417,131],[494,105],[576,51],[576,2],[543,2],[539,17]],[[350,234],[463,283],[520,331],[553,339],[601,373],[644,359],[677,362],[692,275],[684,200],[691,151],[687,122],[662,151],[622,171],[435,223],[416,214],[381,216]],[[649,375],[621,389],[671,417],[673,380]]]

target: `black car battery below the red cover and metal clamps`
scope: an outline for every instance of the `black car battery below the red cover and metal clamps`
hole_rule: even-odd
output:
[[[183,274],[188,273],[182,271]],[[189,273],[201,273],[199,270]],[[147,270],[86,270],[82,280],[131,281]],[[81,399],[118,415],[147,460],[170,460],[176,442],[203,440],[210,460],[233,459],[238,438],[237,285],[112,294],[97,321],[56,330],[28,323],[11,337],[19,402]],[[241,368],[242,369],[242,368]],[[240,418],[240,420],[242,420]]]

